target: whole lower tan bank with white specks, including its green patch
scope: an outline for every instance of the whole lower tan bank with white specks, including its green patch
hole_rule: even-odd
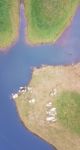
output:
[[[15,102],[21,121],[33,133],[58,150],[80,150],[80,64],[34,68]],[[56,120],[48,121],[52,108]]]

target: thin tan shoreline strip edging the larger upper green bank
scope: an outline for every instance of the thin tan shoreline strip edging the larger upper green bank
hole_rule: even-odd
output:
[[[67,19],[68,21],[66,21],[67,23],[64,24],[64,27],[62,27],[62,30],[61,32],[57,33],[57,36],[54,38],[54,40],[50,40],[50,39],[41,39],[41,40],[36,40],[36,36],[35,36],[35,40],[32,41],[29,39],[29,33],[31,31],[29,31],[29,21],[28,21],[28,17],[25,15],[25,22],[27,23],[26,27],[25,27],[25,42],[26,44],[30,45],[30,46],[40,46],[40,45],[45,45],[45,44],[49,44],[49,45],[52,45],[54,44],[55,42],[57,42],[60,38],[61,38],[61,35],[66,32],[66,30],[71,26],[71,23],[72,23],[72,20],[74,19],[74,16],[75,16],[75,13],[76,11],[80,9],[80,4],[77,4],[73,10],[72,10],[72,15]],[[25,12],[25,6],[24,6],[24,12]],[[38,39],[38,38],[37,38]]]

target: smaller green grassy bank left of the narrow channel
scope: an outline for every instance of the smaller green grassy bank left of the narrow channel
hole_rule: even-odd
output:
[[[9,47],[18,37],[19,0],[0,0],[0,49]]]

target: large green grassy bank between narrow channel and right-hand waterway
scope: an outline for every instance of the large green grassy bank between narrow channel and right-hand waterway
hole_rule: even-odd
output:
[[[71,23],[79,0],[24,0],[28,42],[54,42]]]

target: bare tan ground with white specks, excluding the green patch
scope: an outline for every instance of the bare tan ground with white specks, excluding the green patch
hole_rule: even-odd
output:
[[[62,91],[80,93],[79,68],[80,64],[35,68],[32,80],[28,87],[25,87],[26,90],[19,91],[18,97],[15,98],[19,116],[25,127],[58,150],[79,150],[80,136],[65,128],[59,120],[48,122],[47,105],[53,105]]]

